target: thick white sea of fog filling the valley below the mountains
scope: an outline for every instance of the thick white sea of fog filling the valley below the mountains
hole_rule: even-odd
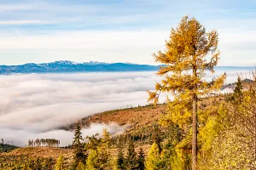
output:
[[[226,83],[237,75],[249,78],[249,69],[218,69],[207,79],[227,73]],[[160,81],[152,71],[96,72],[61,74],[14,74],[0,76],[0,139],[4,143],[25,146],[28,139],[55,138],[70,144],[73,132],[59,127],[92,114],[146,105],[154,83]],[[166,94],[160,97],[164,102]],[[92,124],[83,129],[84,137],[101,133],[121,133],[117,124]]]

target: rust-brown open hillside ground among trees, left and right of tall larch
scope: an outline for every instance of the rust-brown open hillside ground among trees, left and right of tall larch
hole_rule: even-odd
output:
[[[224,101],[224,97],[213,97],[206,100],[200,101],[199,107],[207,107],[208,105],[214,105],[217,101]],[[218,102],[217,102],[218,103]],[[106,123],[110,124],[112,122],[119,124],[120,126],[125,126],[125,133],[122,133],[123,139],[127,139],[127,135],[132,137],[141,137],[146,139],[145,141],[137,140],[136,150],[138,151],[139,145],[143,147],[144,153],[147,153],[150,148],[150,135],[152,135],[154,130],[154,125],[159,121],[160,116],[166,110],[166,105],[147,105],[139,106],[135,108],[105,111],[98,113],[94,116],[84,117],[80,122],[83,127],[88,127],[91,123]],[[65,127],[68,130],[74,129],[75,125]],[[168,130],[168,129],[162,129]],[[168,133],[166,133],[167,135]],[[119,135],[118,135],[119,136]],[[119,137],[115,136],[113,139]],[[119,138],[120,139],[120,138]],[[127,142],[127,141],[125,141]],[[114,145],[113,145],[114,146]],[[117,150],[113,147],[111,150],[111,155],[116,156]],[[8,160],[9,162],[15,162],[21,160],[19,156],[23,156],[23,161],[31,158],[40,157],[43,159],[51,158],[53,164],[55,163],[58,156],[64,156],[65,166],[70,167],[73,162],[73,150],[63,149],[63,148],[48,148],[48,147],[26,147],[18,148],[12,150],[9,153],[0,153],[0,161]]]

